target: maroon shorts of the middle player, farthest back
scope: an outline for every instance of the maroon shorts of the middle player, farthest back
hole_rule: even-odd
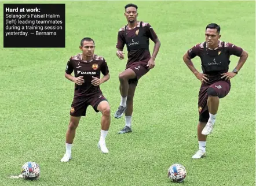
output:
[[[131,69],[136,73],[136,78],[129,79],[129,84],[138,84],[138,80],[149,72],[147,64],[145,62],[134,62],[133,64],[126,66],[126,69]]]

